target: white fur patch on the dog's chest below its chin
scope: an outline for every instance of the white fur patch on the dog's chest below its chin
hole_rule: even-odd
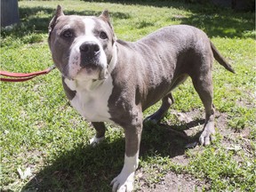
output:
[[[76,96],[70,102],[81,116],[91,122],[111,122],[108,113],[108,99],[113,89],[111,76],[96,82],[64,81],[70,90],[76,91]]]

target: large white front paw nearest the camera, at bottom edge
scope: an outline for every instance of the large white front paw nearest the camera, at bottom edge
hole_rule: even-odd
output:
[[[121,172],[110,185],[113,186],[112,192],[132,192],[134,181],[134,172],[125,174]]]

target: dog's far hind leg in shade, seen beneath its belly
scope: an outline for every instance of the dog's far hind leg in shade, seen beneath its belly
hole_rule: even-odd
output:
[[[154,114],[148,116],[144,122],[152,122],[153,124],[157,124],[173,103],[174,100],[172,97],[172,92],[170,92],[162,99],[161,107]]]

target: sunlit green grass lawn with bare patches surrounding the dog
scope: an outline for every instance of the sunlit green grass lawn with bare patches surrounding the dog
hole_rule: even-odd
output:
[[[19,1],[20,25],[1,29],[1,69],[52,66],[47,30],[57,4],[67,14],[99,15],[108,8],[116,36],[126,41],[168,25],[201,28],[236,70],[231,74],[214,62],[217,139],[188,148],[204,123],[188,80],[173,92],[176,102],[162,122],[144,126],[135,190],[255,191],[255,13],[174,0],[124,2]],[[92,148],[94,130],[70,107],[58,70],[0,87],[1,191],[111,191],[124,163],[122,128],[108,124],[106,140]]]

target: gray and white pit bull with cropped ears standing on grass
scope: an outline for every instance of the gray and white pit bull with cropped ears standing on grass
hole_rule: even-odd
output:
[[[100,17],[64,15],[60,6],[49,26],[52,60],[68,100],[96,129],[91,143],[104,139],[103,122],[124,128],[124,167],[113,191],[132,191],[139,163],[142,112],[162,99],[148,121],[158,122],[173,103],[172,90],[191,77],[205,108],[202,145],[214,134],[212,62],[234,72],[198,28],[176,25],[130,43],[117,40],[108,11]]]

